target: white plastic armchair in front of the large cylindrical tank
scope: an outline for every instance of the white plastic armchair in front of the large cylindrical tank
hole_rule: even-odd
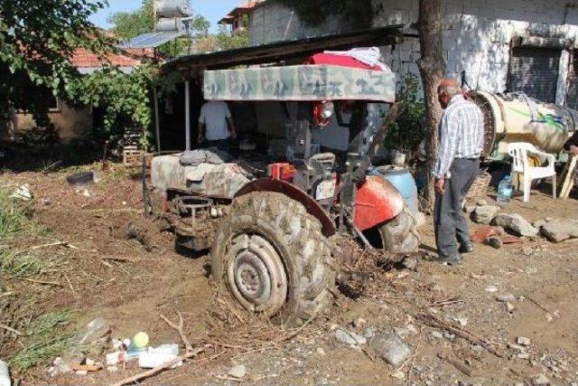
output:
[[[553,177],[552,191],[556,198],[556,171],[555,155],[544,153],[532,144],[526,142],[513,142],[508,144],[508,153],[512,156],[512,174],[523,174],[524,202],[530,201],[530,189],[533,180]],[[531,166],[528,154],[543,155],[548,160],[547,166]]]

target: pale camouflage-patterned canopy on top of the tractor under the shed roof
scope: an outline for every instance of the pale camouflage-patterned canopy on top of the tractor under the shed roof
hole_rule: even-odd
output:
[[[203,90],[207,100],[368,100],[394,103],[396,74],[311,64],[205,71]]]

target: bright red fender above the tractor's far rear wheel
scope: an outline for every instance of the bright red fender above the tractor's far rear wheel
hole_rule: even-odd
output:
[[[368,175],[358,185],[354,223],[359,231],[367,231],[396,218],[404,210],[404,197],[381,175]]]

